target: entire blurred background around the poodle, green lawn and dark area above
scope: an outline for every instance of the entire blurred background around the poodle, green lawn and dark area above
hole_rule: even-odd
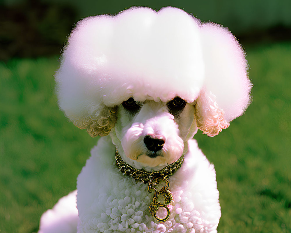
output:
[[[181,8],[244,46],[253,103],[219,136],[195,135],[217,171],[218,232],[291,232],[290,0],[0,0],[0,232],[37,232],[76,188],[98,137],[58,109],[58,58],[81,18],[131,6]]]

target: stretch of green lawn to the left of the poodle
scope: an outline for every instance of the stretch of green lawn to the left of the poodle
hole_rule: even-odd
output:
[[[97,140],[58,109],[57,67],[57,59],[1,65],[1,233],[37,231],[42,212],[76,188]]]

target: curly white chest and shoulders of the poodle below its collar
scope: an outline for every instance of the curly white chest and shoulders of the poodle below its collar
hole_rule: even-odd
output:
[[[198,154],[201,158],[196,159],[199,165],[182,166],[169,178],[174,198],[169,206],[171,215],[166,222],[156,223],[148,210],[153,193],[148,193],[147,184],[123,176],[114,164],[114,156],[107,160],[100,158],[105,152],[114,155],[114,150],[109,140],[100,139],[78,177],[78,232],[194,232],[194,229],[196,232],[202,229],[215,232],[218,220],[205,212],[207,208],[213,212],[213,206],[216,206],[220,216],[220,207],[218,196],[210,197],[213,195],[211,190],[205,189],[203,181],[199,182],[198,176],[203,176],[200,170],[204,170],[200,163],[207,161],[203,160],[201,152]],[[210,170],[208,165],[205,163],[204,166]],[[199,169],[193,172],[195,167]],[[190,170],[191,176],[188,174]],[[215,190],[218,193],[216,186]]]

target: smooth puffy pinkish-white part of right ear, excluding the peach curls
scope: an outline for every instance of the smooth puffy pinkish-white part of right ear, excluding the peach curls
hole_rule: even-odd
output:
[[[219,24],[201,25],[205,63],[204,89],[216,97],[227,122],[243,114],[251,103],[245,52],[233,34]]]

